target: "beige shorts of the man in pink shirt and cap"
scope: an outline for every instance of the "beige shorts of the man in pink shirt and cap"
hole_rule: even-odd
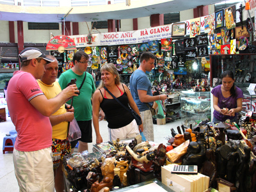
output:
[[[32,152],[14,148],[13,163],[20,191],[54,192],[52,147]]]

